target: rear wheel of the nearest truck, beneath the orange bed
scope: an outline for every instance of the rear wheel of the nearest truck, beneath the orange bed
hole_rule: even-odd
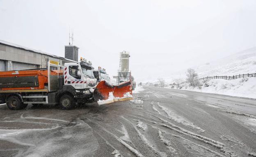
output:
[[[20,110],[27,107],[27,104],[23,104],[20,98],[16,95],[8,97],[6,104],[10,110]]]

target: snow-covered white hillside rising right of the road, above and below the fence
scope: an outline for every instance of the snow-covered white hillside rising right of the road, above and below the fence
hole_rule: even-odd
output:
[[[256,47],[235,53],[224,57],[215,62],[209,62],[204,65],[193,68],[198,73],[198,78],[207,76],[233,76],[239,74],[256,73]],[[180,83],[186,80],[185,71],[164,78],[167,88],[172,83]],[[153,84],[157,81],[151,82]],[[236,80],[201,80],[201,89],[191,87],[189,84],[182,84],[180,89],[189,91],[199,91],[205,93],[217,93],[238,97],[256,98],[256,78],[247,77]]]

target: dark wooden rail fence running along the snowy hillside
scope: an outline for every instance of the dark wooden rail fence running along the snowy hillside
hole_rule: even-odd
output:
[[[256,73],[247,73],[247,74],[239,74],[239,75],[233,75],[233,76],[207,76],[200,78],[198,80],[209,80],[209,79],[225,79],[225,80],[231,80],[231,79],[238,79],[238,78],[245,78],[245,77],[256,77]],[[195,81],[198,81],[195,80]],[[181,82],[180,84],[189,83],[188,81]]]

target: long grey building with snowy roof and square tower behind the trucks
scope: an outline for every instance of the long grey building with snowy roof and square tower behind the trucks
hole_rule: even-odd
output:
[[[48,61],[78,62],[78,47],[65,46],[65,58],[0,40],[0,71],[46,68]]]

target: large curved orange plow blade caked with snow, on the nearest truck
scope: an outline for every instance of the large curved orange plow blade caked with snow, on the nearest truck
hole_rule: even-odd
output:
[[[98,83],[96,88],[94,89],[94,100],[97,102],[99,100],[108,100],[109,93],[112,92],[114,99],[106,102],[101,102],[101,104],[108,104],[115,101],[124,101],[124,100],[131,100],[132,97],[124,97],[126,93],[132,95],[132,83],[131,81],[123,82],[117,86],[113,86],[105,81],[101,81]]]

